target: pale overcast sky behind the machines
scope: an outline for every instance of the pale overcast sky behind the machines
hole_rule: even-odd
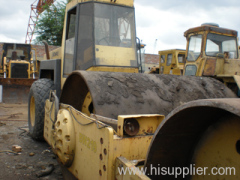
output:
[[[25,43],[34,1],[0,0],[0,42]],[[134,5],[137,37],[148,54],[185,49],[184,31],[202,23],[240,31],[240,0],[135,0]]]

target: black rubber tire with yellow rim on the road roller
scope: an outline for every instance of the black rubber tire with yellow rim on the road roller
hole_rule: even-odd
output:
[[[34,140],[44,140],[45,101],[49,97],[50,90],[54,89],[54,83],[50,79],[39,79],[30,88],[28,96],[28,127],[29,134]]]

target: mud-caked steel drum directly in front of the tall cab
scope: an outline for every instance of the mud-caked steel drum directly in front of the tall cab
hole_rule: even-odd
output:
[[[118,115],[163,114],[197,99],[232,98],[234,93],[212,78],[74,71],[63,86],[60,103],[117,119]]]

